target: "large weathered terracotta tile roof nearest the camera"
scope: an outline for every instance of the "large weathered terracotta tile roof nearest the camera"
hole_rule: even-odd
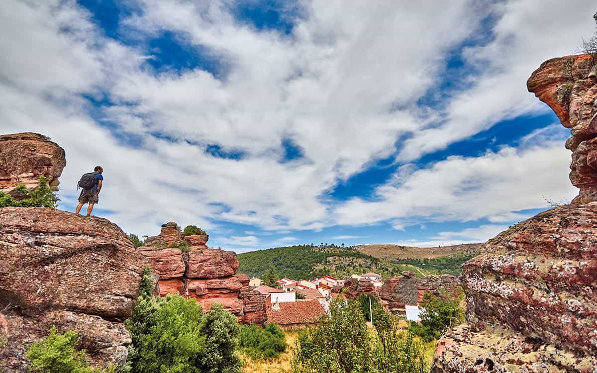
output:
[[[318,300],[297,300],[296,302],[284,302],[276,304],[279,310],[267,309],[267,322],[278,325],[296,325],[316,323],[319,316],[326,315],[324,307]]]

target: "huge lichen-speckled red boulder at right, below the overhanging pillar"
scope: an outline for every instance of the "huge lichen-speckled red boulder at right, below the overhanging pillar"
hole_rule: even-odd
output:
[[[559,206],[500,233],[464,264],[461,280],[473,326],[503,325],[597,355],[597,202]]]

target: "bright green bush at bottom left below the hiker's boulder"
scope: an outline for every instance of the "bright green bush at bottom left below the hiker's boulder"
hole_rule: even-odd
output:
[[[51,326],[50,335],[27,349],[32,372],[42,373],[100,373],[114,372],[115,367],[106,370],[92,368],[85,350],[77,351],[79,343],[76,331],[59,334],[56,326]]]

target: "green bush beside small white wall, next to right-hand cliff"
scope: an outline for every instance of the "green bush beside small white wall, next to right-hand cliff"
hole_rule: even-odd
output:
[[[438,297],[426,292],[420,304],[420,307],[423,308],[420,315],[421,322],[411,322],[409,331],[429,342],[441,337],[449,327],[463,323],[464,312],[460,307],[461,296],[442,294]]]

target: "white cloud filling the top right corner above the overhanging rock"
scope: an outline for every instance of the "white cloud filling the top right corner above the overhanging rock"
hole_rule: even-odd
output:
[[[466,63],[479,72],[466,77],[470,88],[457,91],[447,100],[441,125],[414,132],[399,158],[411,161],[501,120],[550,110],[528,93],[525,83],[543,61],[574,54],[581,36],[593,29],[590,16],[594,5],[586,0],[504,1],[494,5],[498,20],[492,30],[493,40],[464,52]]]

